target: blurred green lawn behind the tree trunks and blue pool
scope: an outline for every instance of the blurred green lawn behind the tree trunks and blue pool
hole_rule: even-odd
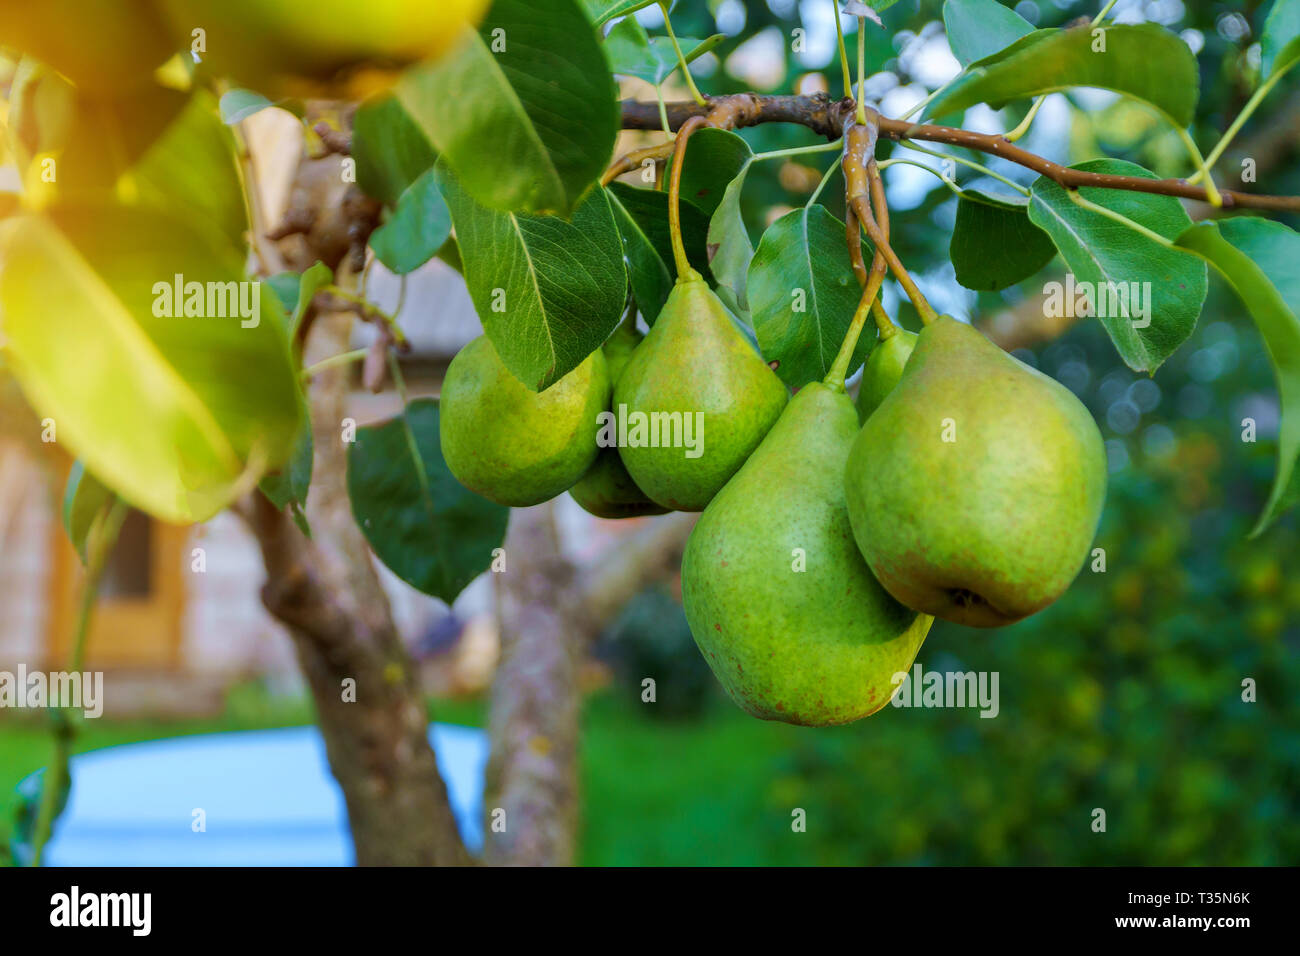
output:
[[[434,701],[438,721],[486,724],[486,700]],[[309,723],[306,700],[239,688],[211,719],[82,722],[75,752],[221,731]],[[588,865],[800,862],[789,810],[770,801],[774,761],[800,730],[754,721],[716,701],[701,721],[650,721],[608,693],[590,697],[582,728],[582,845]],[[0,728],[0,842],[14,787],[51,753],[46,721]],[[788,806],[788,801],[786,801]]]

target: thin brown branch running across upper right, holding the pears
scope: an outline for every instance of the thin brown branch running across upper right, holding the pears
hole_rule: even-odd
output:
[[[806,126],[814,133],[828,138],[841,135],[846,121],[853,114],[852,100],[832,101],[826,94],[811,96],[760,96],[749,94],[750,108],[737,117],[736,126],[754,126],[763,122],[789,122]],[[703,116],[712,103],[703,107],[696,103],[670,103],[666,107],[668,125],[677,129],[692,116]],[[649,121],[653,112],[654,122]],[[1117,189],[1130,193],[1150,193],[1154,195],[1178,196],[1208,202],[1204,186],[1192,186],[1186,179],[1147,179],[1140,176],[1110,176],[1106,173],[1087,173],[1062,166],[1060,163],[1044,159],[1022,150],[1006,137],[985,133],[972,133],[954,126],[932,124],[911,124],[906,120],[879,117],[880,134],[894,140],[919,139],[933,143],[948,143],[967,150],[976,150],[991,156],[1000,156],[1027,169],[1048,177],[1065,189],[1093,186]],[[658,129],[658,104],[623,101],[623,126],[625,129]],[[1278,209],[1300,212],[1300,196],[1271,196],[1254,193],[1219,190],[1226,208]]]

